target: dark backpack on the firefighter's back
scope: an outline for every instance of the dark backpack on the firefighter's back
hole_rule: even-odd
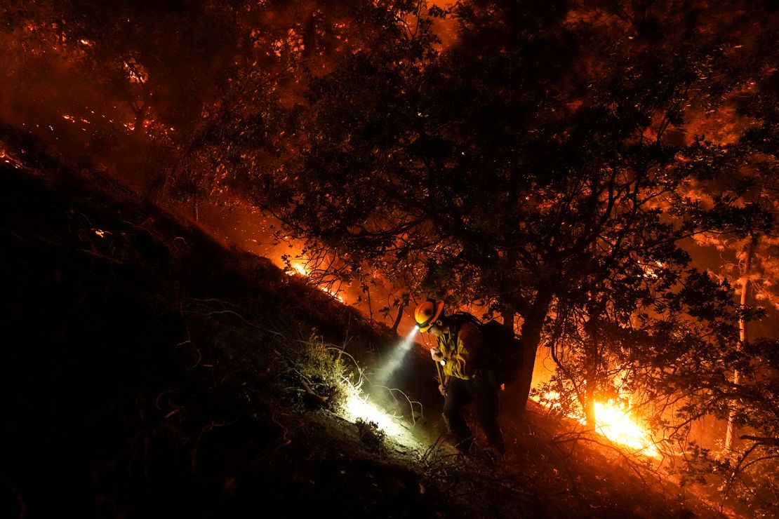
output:
[[[467,312],[458,312],[453,317],[460,319],[458,328],[460,322],[469,321],[481,331],[481,336],[491,352],[489,368],[495,373],[498,384],[510,384],[519,378],[523,365],[522,343],[513,331],[500,321],[492,319],[483,323]]]

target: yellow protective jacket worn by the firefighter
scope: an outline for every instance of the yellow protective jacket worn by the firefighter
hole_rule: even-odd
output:
[[[443,374],[447,379],[457,377],[469,380],[477,370],[484,367],[487,345],[475,324],[453,320],[436,342],[446,360]]]

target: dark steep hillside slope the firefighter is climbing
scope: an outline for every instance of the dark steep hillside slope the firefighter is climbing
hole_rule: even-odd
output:
[[[386,328],[98,175],[0,175],[0,517],[721,517],[541,409],[504,464],[456,456],[421,349],[393,387],[422,443],[352,423],[338,373]]]

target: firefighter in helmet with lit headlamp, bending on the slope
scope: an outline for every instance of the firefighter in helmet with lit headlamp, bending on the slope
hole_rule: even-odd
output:
[[[444,397],[443,418],[456,447],[468,453],[474,435],[465,417],[469,402],[492,454],[506,451],[503,433],[498,423],[500,386],[488,369],[488,345],[476,324],[457,314],[447,316],[441,300],[420,303],[414,312],[419,330],[435,335],[436,346],[430,356],[439,366],[439,391]]]

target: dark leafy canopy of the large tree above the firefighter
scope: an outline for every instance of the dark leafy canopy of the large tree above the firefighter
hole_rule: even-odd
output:
[[[212,121],[222,139],[197,150],[344,275],[519,314],[533,359],[563,309],[627,324],[716,286],[683,238],[772,225],[689,191],[729,174],[724,145],[691,135],[702,114],[774,80],[768,5],[418,8],[361,5],[368,23],[335,57],[285,55],[294,99],[245,77]],[[457,26],[442,50],[435,16]]]

